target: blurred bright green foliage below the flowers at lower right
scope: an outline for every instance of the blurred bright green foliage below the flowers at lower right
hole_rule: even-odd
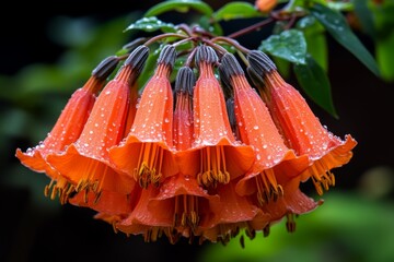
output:
[[[225,247],[209,246],[200,261],[394,261],[392,201],[376,204],[357,192],[332,192],[327,198],[329,203],[296,219],[296,233],[287,233],[283,221],[267,238],[245,236],[245,248],[240,237]]]

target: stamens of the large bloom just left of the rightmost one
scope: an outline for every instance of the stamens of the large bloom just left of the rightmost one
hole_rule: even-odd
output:
[[[260,205],[269,201],[277,201],[283,196],[283,188],[277,183],[273,169],[263,170],[255,177],[257,186],[257,201]]]

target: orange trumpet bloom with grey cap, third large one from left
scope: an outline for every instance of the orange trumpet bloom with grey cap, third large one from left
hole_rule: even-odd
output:
[[[169,80],[175,56],[173,46],[163,48],[158,69],[143,88],[129,134],[109,151],[117,168],[141,188],[159,186],[162,179],[177,172],[172,153],[173,97]]]

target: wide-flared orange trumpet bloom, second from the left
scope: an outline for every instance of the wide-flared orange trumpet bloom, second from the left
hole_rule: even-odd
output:
[[[97,202],[102,190],[130,193],[134,183],[113,168],[108,148],[125,135],[130,88],[148,56],[140,46],[129,56],[116,78],[101,92],[77,142],[62,154],[48,155],[48,162],[76,186],[77,192],[92,191]]]

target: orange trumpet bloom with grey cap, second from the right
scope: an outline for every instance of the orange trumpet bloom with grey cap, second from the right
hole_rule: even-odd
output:
[[[282,196],[282,186],[303,171],[309,160],[306,156],[297,157],[285,145],[267,107],[247,83],[235,57],[225,53],[220,67],[224,72],[222,78],[228,79],[234,90],[234,114],[240,138],[253,146],[256,157],[252,169],[236,184],[236,191],[241,195],[256,193],[259,205],[264,205]]]

